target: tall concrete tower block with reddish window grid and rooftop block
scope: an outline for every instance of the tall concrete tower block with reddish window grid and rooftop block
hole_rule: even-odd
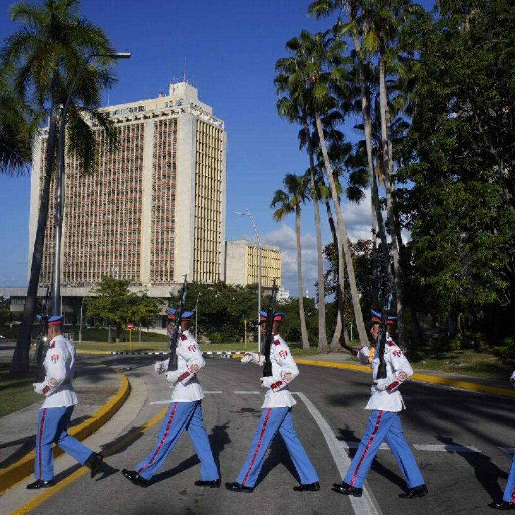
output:
[[[61,283],[66,296],[87,295],[102,277],[130,279],[134,289],[168,297],[170,286],[225,277],[227,133],[186,82],[167,95],[102,108],[119,148],[96,129],[98,171],[65,163]],[[93,126],[94,130],[95,127]],[[33,163],[29,267],[42,190],[47,135]],[[55,186],[53,186],[54,190]],[[53,197],[53,195],[52,195]],[[50,213],[54,213],[53,198]],[[47,222],[40,283],[52,280],[54,216]]]

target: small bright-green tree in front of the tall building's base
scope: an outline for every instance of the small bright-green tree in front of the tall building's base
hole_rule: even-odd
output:
[[[86,313],[89,317],[105,318],[114,325],[116,341],[119,341],[124,326],[129,322],[140,322],[149,327],[161,311],[157,299],[129,290],[129,279],[115,279],[106,276],[90,290],[93,297],[86,300]]]

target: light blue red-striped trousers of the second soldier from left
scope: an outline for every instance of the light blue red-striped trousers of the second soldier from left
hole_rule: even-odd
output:
[[[218,479],[208,434],[204,429],[200,401],[173,402],[168,407],[159,430],[158,441],[148,456],[136,466],[136,472],[150,479],[163,465],[182,432],[186,430],[200,460],[200,479]]]

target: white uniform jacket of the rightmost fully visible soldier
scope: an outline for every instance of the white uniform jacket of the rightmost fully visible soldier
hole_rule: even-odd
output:
[[[409,364],[401,349],[390,339],[385,345],[386,377],[377,379],[377,368],[379,367],[379,355],[375,347],[372,358],[372,378],[376,381],[370,389],[372,394],[365,409],[382,409],[383,411],[402,411],[406,407],[402,400],[399,387],[413,374],[413,368]],[[368,363],[369,349],[362,347],[357,353],[359,361]]]

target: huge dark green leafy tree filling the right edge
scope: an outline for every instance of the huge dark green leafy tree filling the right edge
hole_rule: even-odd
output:
[[[508,0],[438,6],[436,20],[414,21],[401,39],[420,56],[398,172],[414,183],[403,195],[413,301],[450,317],[458,334],[492,311],[507,333],[515,314],[515,11]]]

